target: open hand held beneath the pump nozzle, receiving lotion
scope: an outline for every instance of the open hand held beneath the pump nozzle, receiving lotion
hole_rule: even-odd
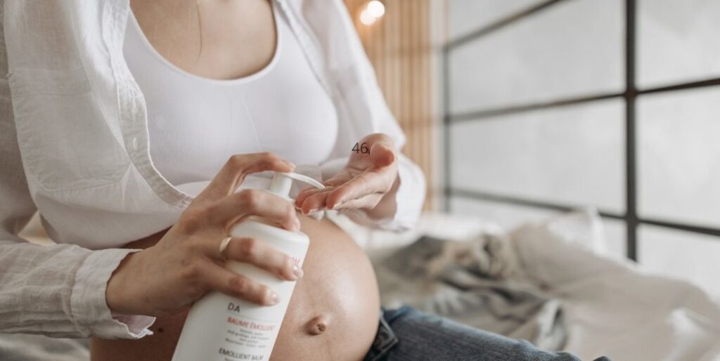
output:
[[[297,195],[295,206],[303,214],[319,209],[372,210],[386,193],[397,188],[397,155],[392,139],[375,133],[358,144],[360,151],[352,152],[345,168],[324,182],[325,189],[309,188]]]

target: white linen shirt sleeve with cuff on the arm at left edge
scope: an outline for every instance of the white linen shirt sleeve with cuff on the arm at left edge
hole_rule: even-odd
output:
[[[110,275],[137,250],[45,247],[18,236],[36,209],[17,145],[2,29],[0,22],[0,332],[126,339],[150,334],[153,317],[112,315],[105,301]]]

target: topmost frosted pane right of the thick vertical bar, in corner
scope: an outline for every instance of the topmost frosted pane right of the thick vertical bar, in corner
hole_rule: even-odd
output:
[[[641,0],[638,6],[640,86],[720,76],[720,1]]]

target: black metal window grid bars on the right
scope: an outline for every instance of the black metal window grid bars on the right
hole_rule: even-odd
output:
[[[640,224],[654,225],[665,227],[667,229],[677,229],[685,232],[694,232],[698,234],[708,234],[720,237],[720,228],[702,227],[695,224],[686,224],[673,221],[665,221],[661,219],[644,218],[638,215],[637,211],[637,165],[636,165],[636,99],[637,96],[650,93],[666,93],[671,91],[682,91],[692,88],[703,88],[709,86],[720,86],[720,78],[710,78],[703,81],[693,81],[689,83],[677,83],[670,86],[662,86],[656,88],[640,89],[636,86],[636,20],[637,20],[637,2],[636,0],[625,0],[625,90],[616,93],[599,93],[592,96],[580,96],[567,99],[555,99],[554,101],[544,101],[533,104],[523,104],[519,106],[500,107],[495,109],[482,109],[478,111],[468,111],[462,114],[451,114],[449,111],[450,84],[449,84],[449,54],[458,47],[469,44],[487,35],[491,35],[498,29],[513,24],[515,22],[541,13],[555,4],[569,0],[549,0],[544,1],[536,6],[525,9],[516,14],[488,24],[485,27],[469,32],[467,35],[456,37],[446,44],[442,50],[443,64],[443,137],[444,137],[444,207],[446,211],[451,211],[451,198],[469,198],[477,201],[489,201],[500,204],[510,204],[516,206],[526,206],[539,209],[549,209],[556,211],[572,211],[577,206],[570,204],[559,204],[546,201],[536,201],[528,198],[501,195],[495,193],[487,193],[482,191],[473,191],[468,189],[455,188],[451,186],[451,170],[452,160],[450,155],[452,124],[459,122],[482,122],[483,119],[489,119],[495,116],[505,114],[515,114],[525,111],[534,111],[539,109],[550,109],[560,106],[572,104],[583,104],[592,101],[600,101],[603,99],[624,99],[625,100],[625,212],[613,213],[600,210],[600,216],[608,219],[619,219],[625,221],[626,224],[626,255],[631,260],[638,259],[637,253],[637,229]]]

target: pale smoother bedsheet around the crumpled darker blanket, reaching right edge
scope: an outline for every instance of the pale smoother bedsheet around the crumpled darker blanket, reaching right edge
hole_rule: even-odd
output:
[[[501,232],[491,222],[441,214],[424,215],[411,234],[349,230],[370,255],[420,233],[463,239]],[[568,352],[582,360],[720,360],[720,302],[696,285],[603,255],[606,239],[593,211],[527,224],[510,236],[524,277],[562,299]]]

